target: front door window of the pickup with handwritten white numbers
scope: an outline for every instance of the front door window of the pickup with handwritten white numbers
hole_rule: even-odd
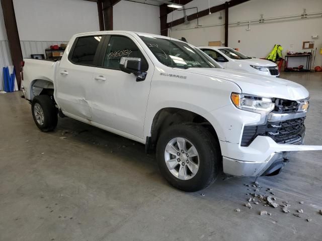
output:
[[[132,40],[124,36],[111,36],[103,66],[120,69],[120,60],[122,57],[141,58],[141,70],[146,71],[148,68],[143,54]]]

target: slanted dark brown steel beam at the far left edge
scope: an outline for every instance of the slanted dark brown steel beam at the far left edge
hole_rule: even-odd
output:
[[[16,69],[18,89],[21,87],[20,63],[23,60],[20,39],[18,34],[15,9],[13,0],[1,0],[2,11],[4,13],[5,26],[10,47],[12,62]]]

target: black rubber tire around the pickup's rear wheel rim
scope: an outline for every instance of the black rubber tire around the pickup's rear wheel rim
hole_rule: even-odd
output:
[[[38,103],[43,110],[43,113],[44,113],[43,124],[40,124],[37,122],[37,118],[35,116],[35,111],[34,111],[36,103]],[[54,105],[53,100],[50,98],[49,95],[38,95],[34,97],[31,104],[31,112],[32,112],[32,116],[34,118],[35,124],[42,132],[50,132],[56,128],[57,122],[58,122],[58,111]]]

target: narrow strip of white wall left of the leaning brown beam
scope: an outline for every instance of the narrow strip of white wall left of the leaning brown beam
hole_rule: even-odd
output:
[[[9,67],[10,73],[13,71],[9,43],[2,6],[0,4],[0,90],[4,90],[3,67]]]

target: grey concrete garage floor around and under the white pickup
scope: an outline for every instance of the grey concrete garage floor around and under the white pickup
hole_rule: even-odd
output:
[[[282,77],[310,91],[306,144],[321,145],[322,74]],[[322,240],[322,152],[293,154],[280,175],[259,178],[279,203],[290,201],[290,213],[263,204],[248,209],[244,184],[252,178],[219,178],[201,192],[181,192],[143,145],[70,118],[42,133],[30,108],[18,92],[0,94],[1,241]],[[301,218],[293,215],[299,208]]]

